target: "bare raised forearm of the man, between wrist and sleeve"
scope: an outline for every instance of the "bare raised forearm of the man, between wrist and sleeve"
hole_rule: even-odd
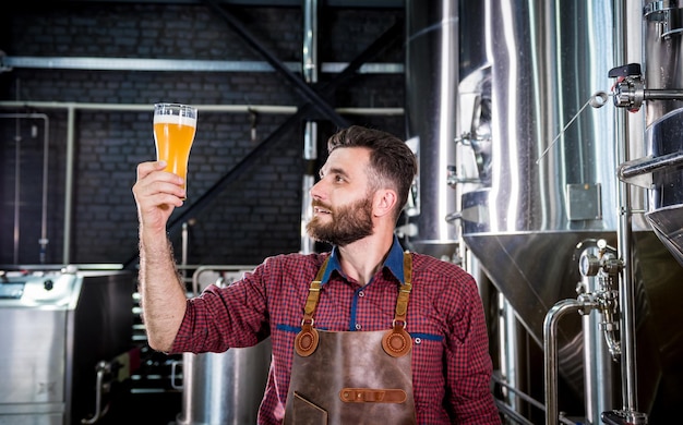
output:
[[[140,231],[140,294],[149,347],[170,351],[185,313],[185,288],[166,232]]]

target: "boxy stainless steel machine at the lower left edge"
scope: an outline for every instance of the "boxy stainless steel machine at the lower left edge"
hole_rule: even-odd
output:
[[[111,269],[5,269],[0,281],[0,423],[91,417],[96,368],[130,349],[134,281]]]

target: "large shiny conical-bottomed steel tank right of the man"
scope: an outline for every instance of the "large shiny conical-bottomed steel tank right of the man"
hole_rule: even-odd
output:
[[[611,7],[503,0],[487,8],[491,182],[464,194],[463,236],[540,344],[547,312],[576,296],[575,246],[614,241],[614,110],[586,108],[608,89],[614,66]],[[563,327],[564,344],[576,330]]]

